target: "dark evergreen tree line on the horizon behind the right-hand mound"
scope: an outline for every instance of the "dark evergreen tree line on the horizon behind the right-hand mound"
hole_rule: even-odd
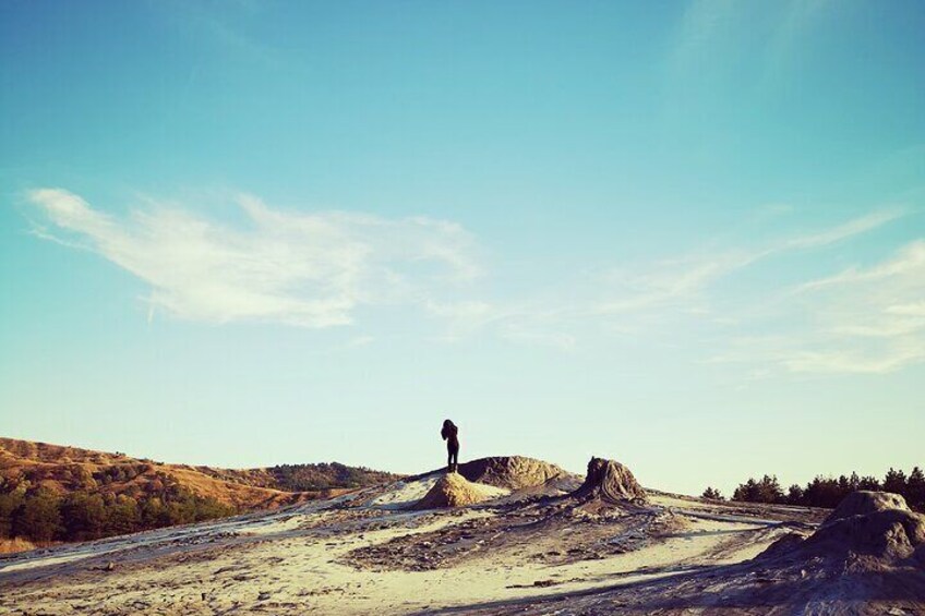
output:
[[[749,478],[745,483],[738,484],[732,494],[732,500],[833,508],[842,498],[857,490],[900,494],[911,508],[925,511],[925,473],[918,467],[913,468],[909,475],[902,470],[890,468],[882,481],[870,475],[858,476],[856,472],[840,475],[838,479],[818,475],[806,483],[805,487],[793,484],[786,492],[781,487],[777,475],[765,475],[760,480]],[[702,497],[724,499],[714,487],[707,487]]]

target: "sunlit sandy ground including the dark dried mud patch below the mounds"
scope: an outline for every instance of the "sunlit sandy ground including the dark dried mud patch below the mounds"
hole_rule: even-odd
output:
[[[0,614],[803,613],[783,587],[758,592],[777,580],[750,559],[808,534],[817,510],[660,493],[597,509],[497,488],[479,506],[408,510],[435,479],[0,557]],[[888,599],[877,613],[914,613]]]

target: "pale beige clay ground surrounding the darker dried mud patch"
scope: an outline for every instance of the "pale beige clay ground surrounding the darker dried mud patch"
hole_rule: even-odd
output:
[[[494,515],[485,508],[400,509],[423,496],[434,481],[429,476],[398,482],[355,509],[398,522],[381,530],[339,528],[332,505],[350,499],[341,497],[8,558],[0,561],[0,613],[415,613],[629,583],[670,576],[672,566],[682,570],[735,563],[754,557],[778,534],[756,533],[768,526],[764,520],[697,515],[685,518],[683,532],[637,549],[562,565],[495,555],[490,548],[452,567],[424,571],[360,570],[343,561],[359,547]],[[493,490],[498,496],[507,494]],[[692,514],[698,507],[666,496],[653,502]],[[320,536],[328,527],[335,534]],[[112,570],[106,570],[110,561]],[[539,580],[556,583],[534,587]]]

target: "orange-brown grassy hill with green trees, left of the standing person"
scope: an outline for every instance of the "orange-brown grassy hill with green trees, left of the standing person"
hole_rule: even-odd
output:
[[[99,539],[274,509],[396,475],[337,462],[232,470],[0,438],[0,541]]]

